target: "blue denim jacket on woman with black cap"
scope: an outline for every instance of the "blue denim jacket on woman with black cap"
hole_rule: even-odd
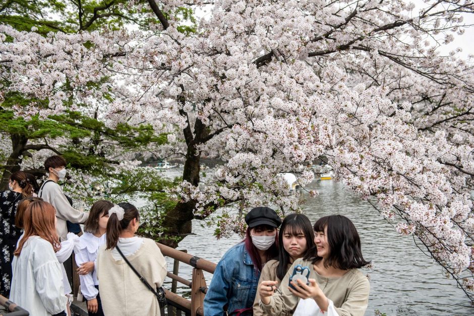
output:
[[[251,308],[259,278],[260,272],[254,269],[245,243],[227,250],[217,264],[204,298],[204,315],[222,316],[226,304],[229,314],[235,309]]]

